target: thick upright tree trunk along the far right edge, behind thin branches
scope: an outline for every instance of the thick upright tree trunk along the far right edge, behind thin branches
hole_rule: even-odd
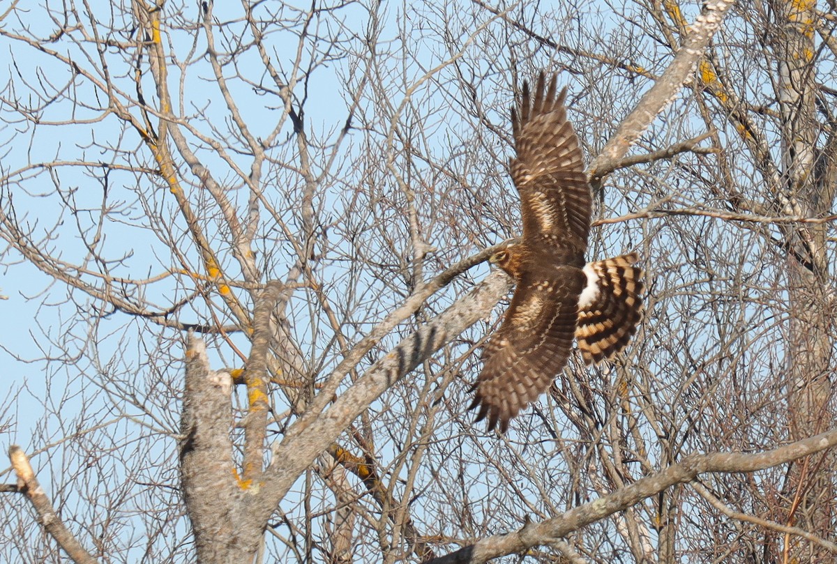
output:
[[[834,160],[816,148],[814,12],[815,2],[774,3],[779,100],[782,111],[782,169],[785,193],[778,195],[785,213],[817,217],[829,213],[834,198]],[[832,145],[829,141],[829,146]],[[829,173],[829,169],[831,172]],[[821,433],[834,416],[831,375],[832,312],[824,224],[788,228],[788,424],[794,440]],[[823,459],[826,457],[826,459]],[[824,469],[833,454],[794,464],[785,491],[783,517],[824,539],[834,538],[834,485]],[[785,547],[789,561],[828,561],[819,545],[798,539]]]

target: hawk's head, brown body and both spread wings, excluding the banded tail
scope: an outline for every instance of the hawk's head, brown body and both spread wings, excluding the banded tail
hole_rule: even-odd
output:
[[[556,95],[556,77],[547,86],[542,73],[534,98],[524,83],[511,111],[517,153],[511,176],[521,195],[523,240],[498,264],[516,276],[517,287],[483,350],[471,405],[480,407],[477,421],[488,418],[488,427],[499,423],[502,432],[567,363],[587,281],[581,267],[593,198],[565,97],[566,90]]]

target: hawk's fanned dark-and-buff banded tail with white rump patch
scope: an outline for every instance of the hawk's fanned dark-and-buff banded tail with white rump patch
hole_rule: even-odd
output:
[[[578,298],[576,341],[585,364],[598,364],[628,345],[642,319],[642,269],[636,253],[584,267],[588,285]]]

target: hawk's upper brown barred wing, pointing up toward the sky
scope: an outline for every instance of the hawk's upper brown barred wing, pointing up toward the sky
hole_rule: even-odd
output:
[[[539,74],[532,98],[524,82],[520,104],[511,110],[517,153],[511,177],[521,195],[523,243],[583,254],[593,197],[578,136],[567,121],[567,90],[556,95],[555,74],[545,83]]]

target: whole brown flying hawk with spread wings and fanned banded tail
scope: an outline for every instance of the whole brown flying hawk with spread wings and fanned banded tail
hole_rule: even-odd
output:
[[[638,256],[584,264],[593,198],[578,136],[567,121],[567,90],[539,74],[511,110],[516,158],[511,177],[521,196],[523,237],[490,261],[517,283],[503,323],[485,344],[471,408],[488,428],[509,421],[547,391],[578,339],[584,361],[621,351],[642,310]]]

